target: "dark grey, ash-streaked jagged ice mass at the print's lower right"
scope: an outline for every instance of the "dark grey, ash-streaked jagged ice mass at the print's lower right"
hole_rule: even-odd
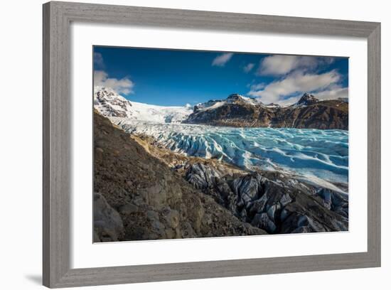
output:
[[[348,196],[280,173],[223,176],[205,164],[189,166],[186,180],[237,218],[270,234],[348,230]]]

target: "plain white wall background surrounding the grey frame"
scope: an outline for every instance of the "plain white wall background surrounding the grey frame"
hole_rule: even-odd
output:
[[[387,1],[211,1],[122,0],[99,1],[176,9],[197,9],[282,16],[341,18],[382,22],[382,180],[387,182],[391,162],[390,51],[391,19]],[[0,267],[1,289],[38,289],[41,286],[41,0],[2,3],[0,45]],[[223,279],[200,279],[134,284],[132,289],[387,289],[391,272],[391,211],[388,187],[382,195],[382,267]],[[129,285],[88,289],[129,289]]]

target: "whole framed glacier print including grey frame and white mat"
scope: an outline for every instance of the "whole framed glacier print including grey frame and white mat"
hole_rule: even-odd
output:
[[[49,2],[43,40],[45,286],[380,267],[380,23]]]

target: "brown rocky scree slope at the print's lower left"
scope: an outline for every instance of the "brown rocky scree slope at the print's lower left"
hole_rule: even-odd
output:
[[[263,235],[95,112],[94,241]]]

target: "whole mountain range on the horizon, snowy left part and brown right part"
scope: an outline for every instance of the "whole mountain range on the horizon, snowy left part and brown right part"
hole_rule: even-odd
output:
[[[318,100],[304,93],[295,104],[282,107],[231,94],[185,107],[164,107],[129,101],[106,87],[95,87],[94,107],[105,117],[157,123],[205,124],[223,127],[348,129],[348,100]]]

